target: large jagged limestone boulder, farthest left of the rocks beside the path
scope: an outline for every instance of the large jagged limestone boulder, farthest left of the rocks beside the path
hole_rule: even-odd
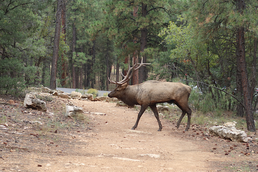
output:
[[[36,98],[36,95],[26,94],[24,99],[24,107],[38,109],[39,111],[47,111],[46,103]]]

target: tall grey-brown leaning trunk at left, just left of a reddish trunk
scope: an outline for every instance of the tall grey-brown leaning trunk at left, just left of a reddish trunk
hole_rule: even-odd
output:
[[[61,12],[62,12],[62,0],[58,0],[56,22],[55,22],[53,58],[52,58],[50,86],[49,86],[49,88],[52,90],[56,89],[56,85],[57,85],[56,84],[56,75],[57,75],[57,60],[58,60],[58,49],[59,49],[59,39],[60,39],[60,30],[61,30]]]

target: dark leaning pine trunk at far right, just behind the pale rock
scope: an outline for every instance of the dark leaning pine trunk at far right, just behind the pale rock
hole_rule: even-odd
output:
[[[238,0],[238,10],[240,14],[243,13],[245,8],[245,1]],[[245,32],[243,27],[237,28],[237,58],[239,59],[239,68],[241,74],[243,95],[244,95],[244,105],[245,105],[245,116],[246,116],[246,124],[247,129],[249,131],[255,132],[255,124],[254,124],[254,116],[251,102],[251,94],[248,83],[248,75],[247,75],[247,67],[245,60]]]

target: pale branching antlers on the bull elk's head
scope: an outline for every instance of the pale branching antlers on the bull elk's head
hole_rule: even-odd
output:
[[[143,60],[143,58],[142,58],[142,60]],[[138,55],[136,56],[136,62],[137,62],[137,61],[138,61]],[[138,66],[137,68],[135,68],[138,64],[139,64],[139,66]],[[127,83],[127,82],[129,82],[130,79],[133,77],[133,74],[134,74],[134,72],[135,72],[136,70],[138,70],[141,66],[145,66],[145,65],[147,65],[147,64],[151,64],[151,63],[143,63],[143,62],[141,61],[141,63],[135,63],[135,64],[134,64],[134,62],[133,62],[133,66],[131,67],[131,66],[130,66],[130,54],[129,54],[129,55],[128,55],[128,71],[127,71],[127,75],[124,76],[123,73],[121,72],[121,67],[119,68],[120,73],[122,74],[122,76],[124,77],[124,79],[123,79],[122,81],[120,81],[120,82],[116,82],[116,81],[112,81],[112,80],[111,80],[111,77],[110,77],[110,78],[108,78],[108,80],[109,80],[112,84],[117,84],[117,85],[122,85],[122,84],[124,84],[124,83]],[[128,75],[130,74],[131,70],[132,70],[132,73],[131,73],[131,75],[128,77]]]

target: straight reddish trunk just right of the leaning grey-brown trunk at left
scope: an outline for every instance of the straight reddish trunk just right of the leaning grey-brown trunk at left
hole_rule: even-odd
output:
[[[66,4],[63,1],[62,4],[62,32],[64,34],[64,42],[66,43]],[[64,54],[61,54],[62,59],[62,75],[61,75],[61,85],[62,87],[66,84],[66,62],[64,60]]]

